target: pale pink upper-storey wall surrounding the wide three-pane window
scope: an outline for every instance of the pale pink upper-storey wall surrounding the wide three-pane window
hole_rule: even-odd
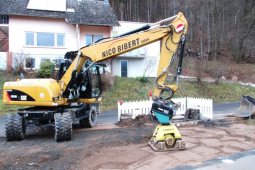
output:
[[[52,32],[64,33],[65,47],[27,47],[25,45],[25,32]],[[18,53],[31,54],[64,54],[67,50],[76,50],[75,27],[68,24],[64,19],[33,18],[33,17],[14,17],[9,19],[9,50]]]

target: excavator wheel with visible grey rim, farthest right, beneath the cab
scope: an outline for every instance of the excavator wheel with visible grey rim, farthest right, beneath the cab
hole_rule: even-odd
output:
[[[97,111],[95,107],[91,107],[89,111],[89,117],[80,120],[80,126],[91,128],[95,126],[96,123],[97,123]]]

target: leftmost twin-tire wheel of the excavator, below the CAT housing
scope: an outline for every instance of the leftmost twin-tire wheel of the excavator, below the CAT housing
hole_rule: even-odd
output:
[[[19,114],[8,115],[5,120],[7,141],[23,140],[26,135],[25,120]]]

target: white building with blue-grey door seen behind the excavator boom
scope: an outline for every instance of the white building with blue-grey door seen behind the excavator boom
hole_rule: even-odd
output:
[[[117,36],[148,23],[119,21],[114,27],[112,36]],[[112,74],[121,77],[156,77],[160,56],[160,42],[122,54],[112,60]]]

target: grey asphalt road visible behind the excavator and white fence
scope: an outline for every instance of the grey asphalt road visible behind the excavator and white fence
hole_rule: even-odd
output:
[[[238,107],[240,106],[240,102],[231,102],[231,103],[216,103],[213,106],[213,111],[215,117],[222,116],[230,113],[234,113]],[[99,115],[98,124],[114,124],[118,121],[118,112],[117,110],[103,112]],[[0,137],[5,136],[4,132],[4,117],[0,117]]]

